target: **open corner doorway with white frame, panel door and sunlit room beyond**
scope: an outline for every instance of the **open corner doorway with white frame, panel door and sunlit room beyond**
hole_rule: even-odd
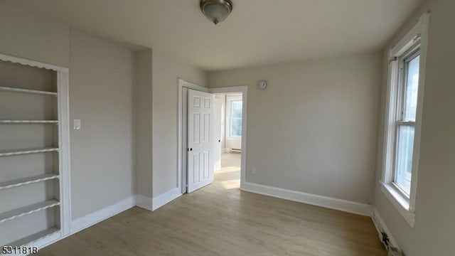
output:
[[[245,184],[247,86],[207,88],[178,80],[178,189]]]

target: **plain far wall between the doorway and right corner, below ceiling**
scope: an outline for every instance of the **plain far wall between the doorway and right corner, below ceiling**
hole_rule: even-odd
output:
[[[365,53],[208,73],[248,86],[246,181],[372,203],[381,67]]]

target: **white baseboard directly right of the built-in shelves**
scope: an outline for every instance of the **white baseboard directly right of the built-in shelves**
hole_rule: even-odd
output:
[[[89,213],[85,216],[77,218],[71,222],[70,227],[70,234],[77,233],[85,228],[89,228],[96,223],[101,222],[102,220],[106,220],[107,218],[111,218],[114,215],[122,213],[124,210],[128,210],[136,206],[136,196],[129,196],[124,198],[122,201],[118,201],[111,206],[107,206],[102,208],[101,210],[97,210],[94,213]]]

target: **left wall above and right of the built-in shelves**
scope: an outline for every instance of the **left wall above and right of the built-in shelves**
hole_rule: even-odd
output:
[[[133,195],[132,51],[4,2],[0,33],[1,53],[70,68],[73,218]]]

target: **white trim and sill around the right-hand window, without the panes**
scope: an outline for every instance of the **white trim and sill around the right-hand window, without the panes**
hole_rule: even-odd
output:
[[[423,14],[417,24],[406,33],[405,36],[388,51],[389,70],[387,77],[387,102],[385,105],[385,126],[384,126],[384,147],[382,159],[382,178],[380,181],[381,191],[390,200],[398,212],[405,218],[411,227],[414,227],[416,215],[415,198],[417,194],[417,178],[419,168],[420,134],[422,126],[422,107],[424,100],[425,64],[427,63],[428,23],[429,13]],[[394,181],[393,161],[395,159],[395,102],[398,97],[398,65],[397,56],[401,56],[420,40],[420,62],[419,62],[419,88],[417,95],[417,113],[414,130],[414,152],[412,157],[412,180],[409,198],[400,191]]]

